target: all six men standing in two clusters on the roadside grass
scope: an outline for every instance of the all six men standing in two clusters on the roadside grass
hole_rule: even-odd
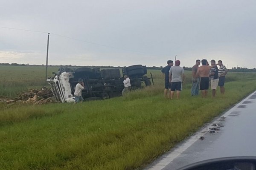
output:
[[[202,65],[199,67],[201,62]],[[164,96],[165,98],[173,99],[174,92],[176,91],[176,98],[179,99],[180,91],[182,91],[182,83],[185,79],[184,69],[180,67],[179,60],[175,61],[175,66],[173,66],[172,60],[168,60],[167,64],[168,65],[161,70],[163,74],[165,74]],[[212,97],[215,97],[218,86],[220,86],[221,94],[225,93],[224,83],[227,68],[223,65],[221,60],[216,64],[215,60],[212,59],[210,64],[211,65],[209,65],[206,59],[202,59],[202,61],[197,59],[195,65],[192,67],[192,96],[197,96],[199,90],[201,90],[202,97],[207,97],[209,83],[211,85]]]

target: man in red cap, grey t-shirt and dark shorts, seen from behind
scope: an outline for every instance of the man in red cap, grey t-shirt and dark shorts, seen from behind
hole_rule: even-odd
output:
[[[184,69],[180,67],[180,60],[175,61],[175,66],[172,66],[169,71],[169,82],[171,82],[171,99],[173,99],[176,90],[176,98],[180,98],[182,90],[182,82],[185,79]]]

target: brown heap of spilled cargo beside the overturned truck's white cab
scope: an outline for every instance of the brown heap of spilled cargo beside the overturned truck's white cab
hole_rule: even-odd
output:
[[[35,88],[29,88],[29,91],[23,91],[17,94],[17,97],[9,99],[4,96],[0,96],[0,102],[12,105],[15,102],[31,103],[33,105],[41,105],[48,102],[56,102],[55,97],[51,89],[42,87],[40,90]]]

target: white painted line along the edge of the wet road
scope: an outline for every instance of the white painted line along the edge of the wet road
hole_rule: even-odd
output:
[[[220,119],[221,117],[227,117],[232,111],[234,111],[239,105],[241,105],[245,100],[249,99],[250,96],[252,96],[256,91],[254,91],[252,94],[247,96],[245,99],[243,99],[241,102],[237,103],[233,108],[225,112],[223,115],[216,119]],[[221,120],[215,120],[211,123],[209,123],[206,127],[203,127],[199,132],[195,133],[193,136],[189,137],[189,139],[186,140],[183,144],[179,145],[177,148],[173,148],[172,152],[170,152],[167,156],[165,156],[163,159],[158,161],[153,166],[147,168],[146,170],[162,170],[164,167],[166,167],[168,164],[170,164],[175,158],[177,158],[181,153],[183,153],[187,148],[189,148],[192,144],[194,144],[201,136],[204,136],[206,128],[209,129],[212,126],[213,123],[219,124]]]

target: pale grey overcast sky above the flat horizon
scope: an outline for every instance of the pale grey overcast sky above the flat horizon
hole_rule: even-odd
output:
[[[0,28],[1,63],[45,64],[49,32],[49,65],[256,67],[256,0],[2,0],[0,27],[45,32]]]

